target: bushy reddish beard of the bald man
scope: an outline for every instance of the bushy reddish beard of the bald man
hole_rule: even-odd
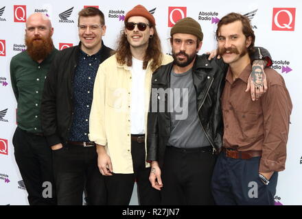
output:
[[[39,40],[36,40],[39,39]],[[32,57],[32,60],[38,62],[38,60],[45,60],[45,58],[54,49],[54,43],[51,39],[51,34],[47,38],[27,38],[25,36],[25,45],[27,47],[27,53]]]

